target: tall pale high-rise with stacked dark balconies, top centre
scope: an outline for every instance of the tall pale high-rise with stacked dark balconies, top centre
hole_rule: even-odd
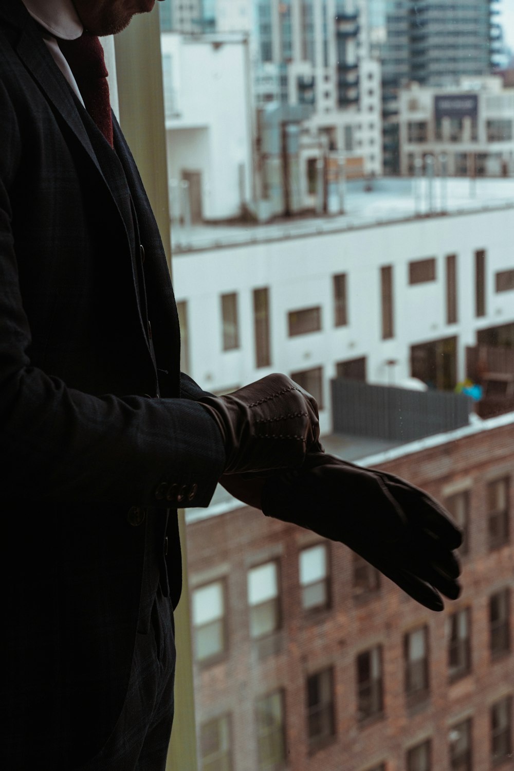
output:
[[[255,101],[310,105],[307,128],[328,136],[354,176],[380,176],[380,64],[358,46],[360,22],[353,0],[256,2]]]

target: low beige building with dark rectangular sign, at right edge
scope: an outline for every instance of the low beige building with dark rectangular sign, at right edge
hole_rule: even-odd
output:
[[[514,173],[514,89],[502,78],[462,78],[452,88],[412,83],[398,94],[401,174],[435,156],[451,177],[501,177]]]

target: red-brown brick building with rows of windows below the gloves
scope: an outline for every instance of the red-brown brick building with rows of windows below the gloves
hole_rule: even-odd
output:
[[[513,449],[509,413],[361,462],[465,530],[440,614],[310,531],[247,507],[193,517],[203,771],[514,769]]]

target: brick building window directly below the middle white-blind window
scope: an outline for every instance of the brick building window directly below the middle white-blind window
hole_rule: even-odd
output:
[[[284,694],[271,693],[256,704],[257,757],[260,771],[275,771],[286,759]]]

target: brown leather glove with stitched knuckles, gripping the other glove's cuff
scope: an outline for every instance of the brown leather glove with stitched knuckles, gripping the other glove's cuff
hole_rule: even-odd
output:
[[[227,394],[200,399],[225,442],[223,473],[295,468],[319,447],[317,403],[287,375],[267,375]]]

